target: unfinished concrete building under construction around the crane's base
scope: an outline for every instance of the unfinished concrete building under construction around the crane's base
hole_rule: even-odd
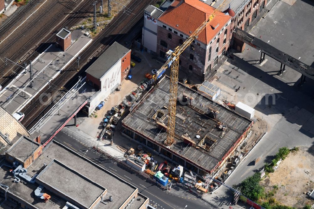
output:
[[[167,136],[169,77],[143,96],[122,121],[136,142],[196,174],[214,175],[246,138],[252,121],[179,83],[175,143]]]

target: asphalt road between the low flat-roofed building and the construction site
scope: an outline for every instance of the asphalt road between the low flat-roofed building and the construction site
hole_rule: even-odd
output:
[[[187,205],[188,208],[214,208],[201,199],[197,199],[196,196],[189,193],[185,193],[184,196],[171,193],[169,191],[163,191],[156,185],[152,184],[145,178],[135,174],[132,170],[128,170],[121,164],[117,164],[109,158],[101,156],[95,152],[92,147],[86,147],[80,139],[73,138],[65,134],[62,130],[54,137],[59,143],[67,146],[68,148],[80,153],[85,154],[86,158],[89,158],[98,165],[104,167],[110,172],[116,174],[121,179],[135,185],[141,194],[149,197],[149,202],[157,209],[176,209],[184,208]],[[86,150],[89,150],[86,152]],[[174,194],[174,195],[173,195]]]

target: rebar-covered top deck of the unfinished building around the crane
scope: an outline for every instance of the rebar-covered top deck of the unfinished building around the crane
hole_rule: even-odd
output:
[[[144,99],[122,121],[122,126],[140,133],[164,149],[170,150],[173,154],[188,159],[198,167],[208,172],[212,171],[252,124],[252,121],[178,83],[177,98],[182,98],[184,94],[192,97],[193,100],[191,105],[177,102],[176,143],[171,147],[166,147],[164,141],[167,133],[152,118],[154,115],[158,115],[159,112],[168,115],[168,109],[165,107],[168,107],[169,104],[169,85],[169,77],[162,78],[158,85],[151,92],[144,95]],[[211,109],[219,111],[216,119],[210,118],[209,112]],[[227,130],[223,132],[216,128],[217,121],[226,125]],[[167,126],[167,122],[168,119],[165,116],[162,123]],[[181,138],[182,135],[189,138],[196,146],[193,147],[184,142]],[[209,140],[208,143],[214,142],[209,151],[198,146],[203,139],[205,141]]]

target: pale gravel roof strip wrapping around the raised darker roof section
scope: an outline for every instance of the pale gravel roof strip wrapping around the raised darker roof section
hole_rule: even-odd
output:
[[[104,197],[104,201],[112,196],[113,202],[107,201],[107,205],[98,204],[97,209],[104,208],[119,208],[124,201],[127,200],[131,194],[137,190],[137,188],[126,181],[120,179],[115,174],[112,174],[108,170],[96,165],[92,161],[82,157],[71,149],[63,146],[62,144],[52,140],[51,143],[43,150],[43,154],[35,160],[28,169],[29,173],[33,170],[36,173],[40,170],[44,163],[49,164],[54,159],[63,163],[64,165],[73,168],[83,174],[89,180],[101,185],[107,189],[107,194]],[[57,179],[58,175],[54,175]],[[131,204],[132,205],[132,204]]]

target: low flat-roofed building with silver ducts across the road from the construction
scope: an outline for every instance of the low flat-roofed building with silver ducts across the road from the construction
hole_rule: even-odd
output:
[[[15,148],[24,142],[27,147],[31,144],[27,138],[21,140]],[[23,159],[33,153],[27,150],[24,153],[27,157]],[[27,169],[23,168],[23,159],[14,153],[14,163],[2,161],[3,206],[34,209],[144,209],[148,206],[149,198],[139,193],[138,188],[58,142],[52,141],[41,155],[34,155],[34,162]]]

